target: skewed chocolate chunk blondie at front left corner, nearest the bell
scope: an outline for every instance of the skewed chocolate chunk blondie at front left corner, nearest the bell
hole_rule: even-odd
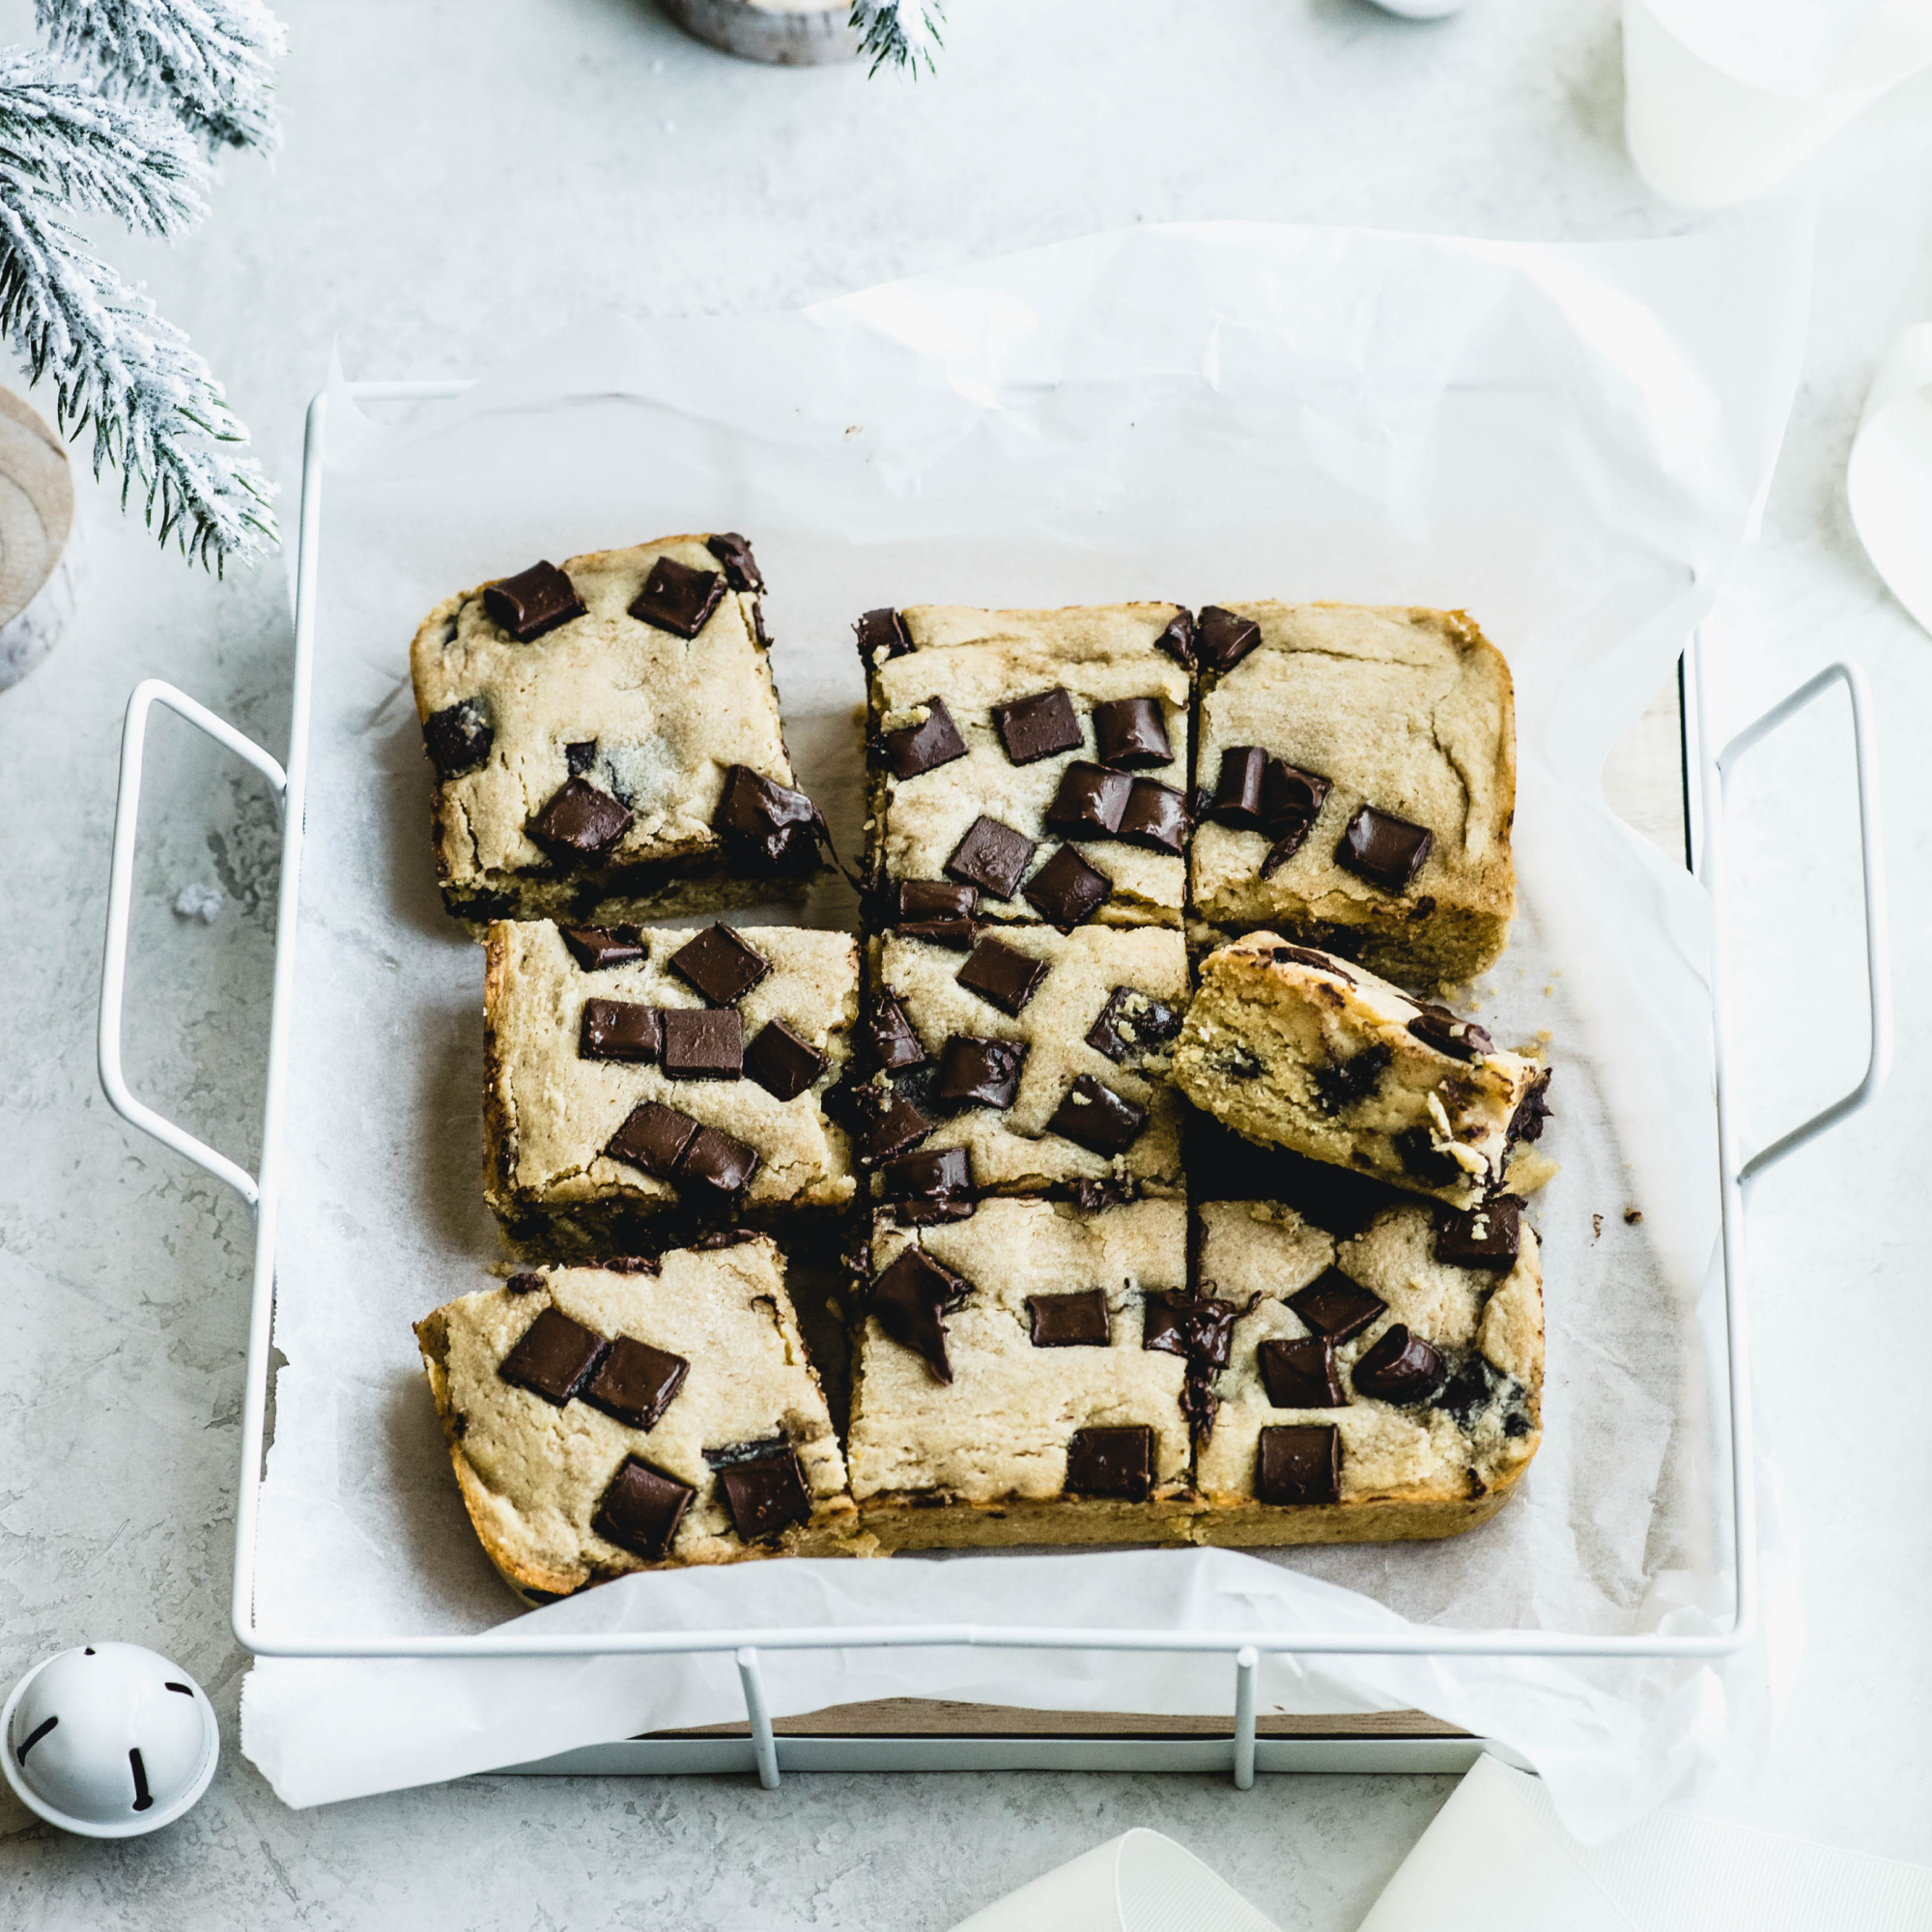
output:
[[[415,1335],[469,1520],[526,1596],[873,1553],[765,1236],[512,1275]]]

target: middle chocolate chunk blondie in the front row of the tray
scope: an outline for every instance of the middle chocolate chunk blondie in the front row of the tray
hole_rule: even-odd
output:
[[[1144,1347],[1186,1296],[1186,1209],[987,1200],[875,1215],[852,1493],[887,1549],[1186,1542],[1186,1362]]]

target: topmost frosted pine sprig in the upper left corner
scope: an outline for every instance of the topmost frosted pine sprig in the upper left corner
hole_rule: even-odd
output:
[[[166,104],[211,153],[280,145],[272,70],[288,37],[261,0],[33,0],[33,14],[56,58]]]

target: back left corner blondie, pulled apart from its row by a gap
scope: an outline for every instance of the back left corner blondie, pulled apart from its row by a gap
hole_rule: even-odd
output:
[[[410,647],[444,904],[639,920],[782,898],[823,819],[779,726],[738,535],[539,562],[446,597]]]

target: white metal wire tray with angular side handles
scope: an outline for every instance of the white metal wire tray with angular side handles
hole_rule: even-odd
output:
[[[357,402],[437,402],[460,394],[464,383],[357,383],[348,394]],[[1414,1629],[1403,1636],[1366,1636],[1354,1631],[1281,1634],[1196,1633],[1173,1629],[1063,1629],[1018,1625],[885,1625],[844,1629],[736,1629],[709,1633],[531,1634],[516,1625],[481,1634],[313,1638],[280,1631],[255,1615],[255,1524],[263,1478],[265,1424],[270,1403],[270,1335],[274,1316],[276,1208],[282,1182],[282,1105],[288,1061],[288,1020],[294,1009],[296,912],[301,887],[303,779],[307,763],[309,690],[315,647],[317,560],[321,547],[323,450],[328,433],[328,398],[309,404],[301,468],[301,512],[296,556],[296,668],[290,707],[286,769],[232,724],[195,699],[158,680],[139,684],[128,703],[122,740],[120,802],[114,819],[112,877],[108,893],[106,958],[100,976],[100,1084],[108,1101],[131,1124],[153,1134],[203,1171],[228,1182],[255,1211],[255,1275],[249,1314],[247,1383],[242,1414],[242,1482],[236,1509],[236,1575],[232,1623],[236,1640],[265,1658],[487,1658],[487,1656],[583,1656],[614,1652],[723,1652],[736,1658],[744,1687],[746,1721],[738,1735],[667,1733],[649,1739],[599,1745],[520,1770],[541,1772],[726,1772],[755,1768],[765,1785],[779,1781],[781,1764],[792,1770],[960,1770],[960,1768],[1063,1768],[1063,1770],[1233,1770],[1235,1783],[1252,1785],[1258,1770],[1337,1772],[1408,1770],[1445,1772],[1466,1768],[1484,1748],[1480,1739],[1457,1733],[1416,1714],[1366,1719],[1269,1719],[1256,1723],[1256,1671],[1260,1654],[1401,1654],[1401,1656],[1503,1656],[1503,1658],[1681,1658],[1731,1656],[1752,1636],[1758,1615],[1758,1532],[1752,1490],[1752,1418],[1747,1321],[1747,1188],[1787,1153],[1797,1151],[1835,1122],[1870,1103],[1884,1084],[1891,1053],[1886,906],[1880,852],[1878,782],[1870,694],[1857,665],[1835,663],[1818,672],[1727,746],[1712,752],[1704,732],[1704,668],[1696,639],[1687,645],[1681,672],[1683,771],[1687,811],[1687,860],[1712,896],[1716,1005],[1716,1109],[1723,1215],[1725,1376],[1729,1420],[1725,1470],[1733,1575],[1737,1580],[1729,1625],[1708,1636],[1627,1634],[1602,1636],[1565,1631],[1443,1631]],[[1729,1034],[1729,947],[1725,875],[1725,782],[1739,761],[1770,732],[1804,709],[1830,686],[1843,684],[1851,699],[1857,755],[1859,838],[1864,875],[1866,993],[1870,1005],[1870,1059],[1864,1078],[1830,1107],[1756,1153],[1745,1153],[1731,1119],[1735,1047]],[[274,790],[282,810],[282,873],[276,914],[274,1003],[269,1022],[269,1080],[263,1109],[261,1167],[251,1175],[236,1161],[197,1140],[129,1092],[122,1072],[122,1005],[128,954],[128,916],[133,889],[135,831],[141,808],[141,759],[149,711],[162,703],[199,726],[236,757],[253,765]],[[893,1706],[862,1706],[873,1716],[823,1712],[819,1719],[792,1719],[782,1737],[773,1727],[765,1700],[759,1652],[858,1646],[985,1646],[1012,1650],[1130,1650],[1223,1654],[1233,1665],[1233,1731],[1188,1733],[1188,1719],[1140,1719],[1088,1714],[1068,1725],[1045,1714],[922,1706],[904,1700],[895,1727]],[[881,1727],[883,1725],[883,1727]],[[1097,1725],[1092,1729],[1088,1725]],[[1265,1731],[1265,1735],[1264,1735]]]

